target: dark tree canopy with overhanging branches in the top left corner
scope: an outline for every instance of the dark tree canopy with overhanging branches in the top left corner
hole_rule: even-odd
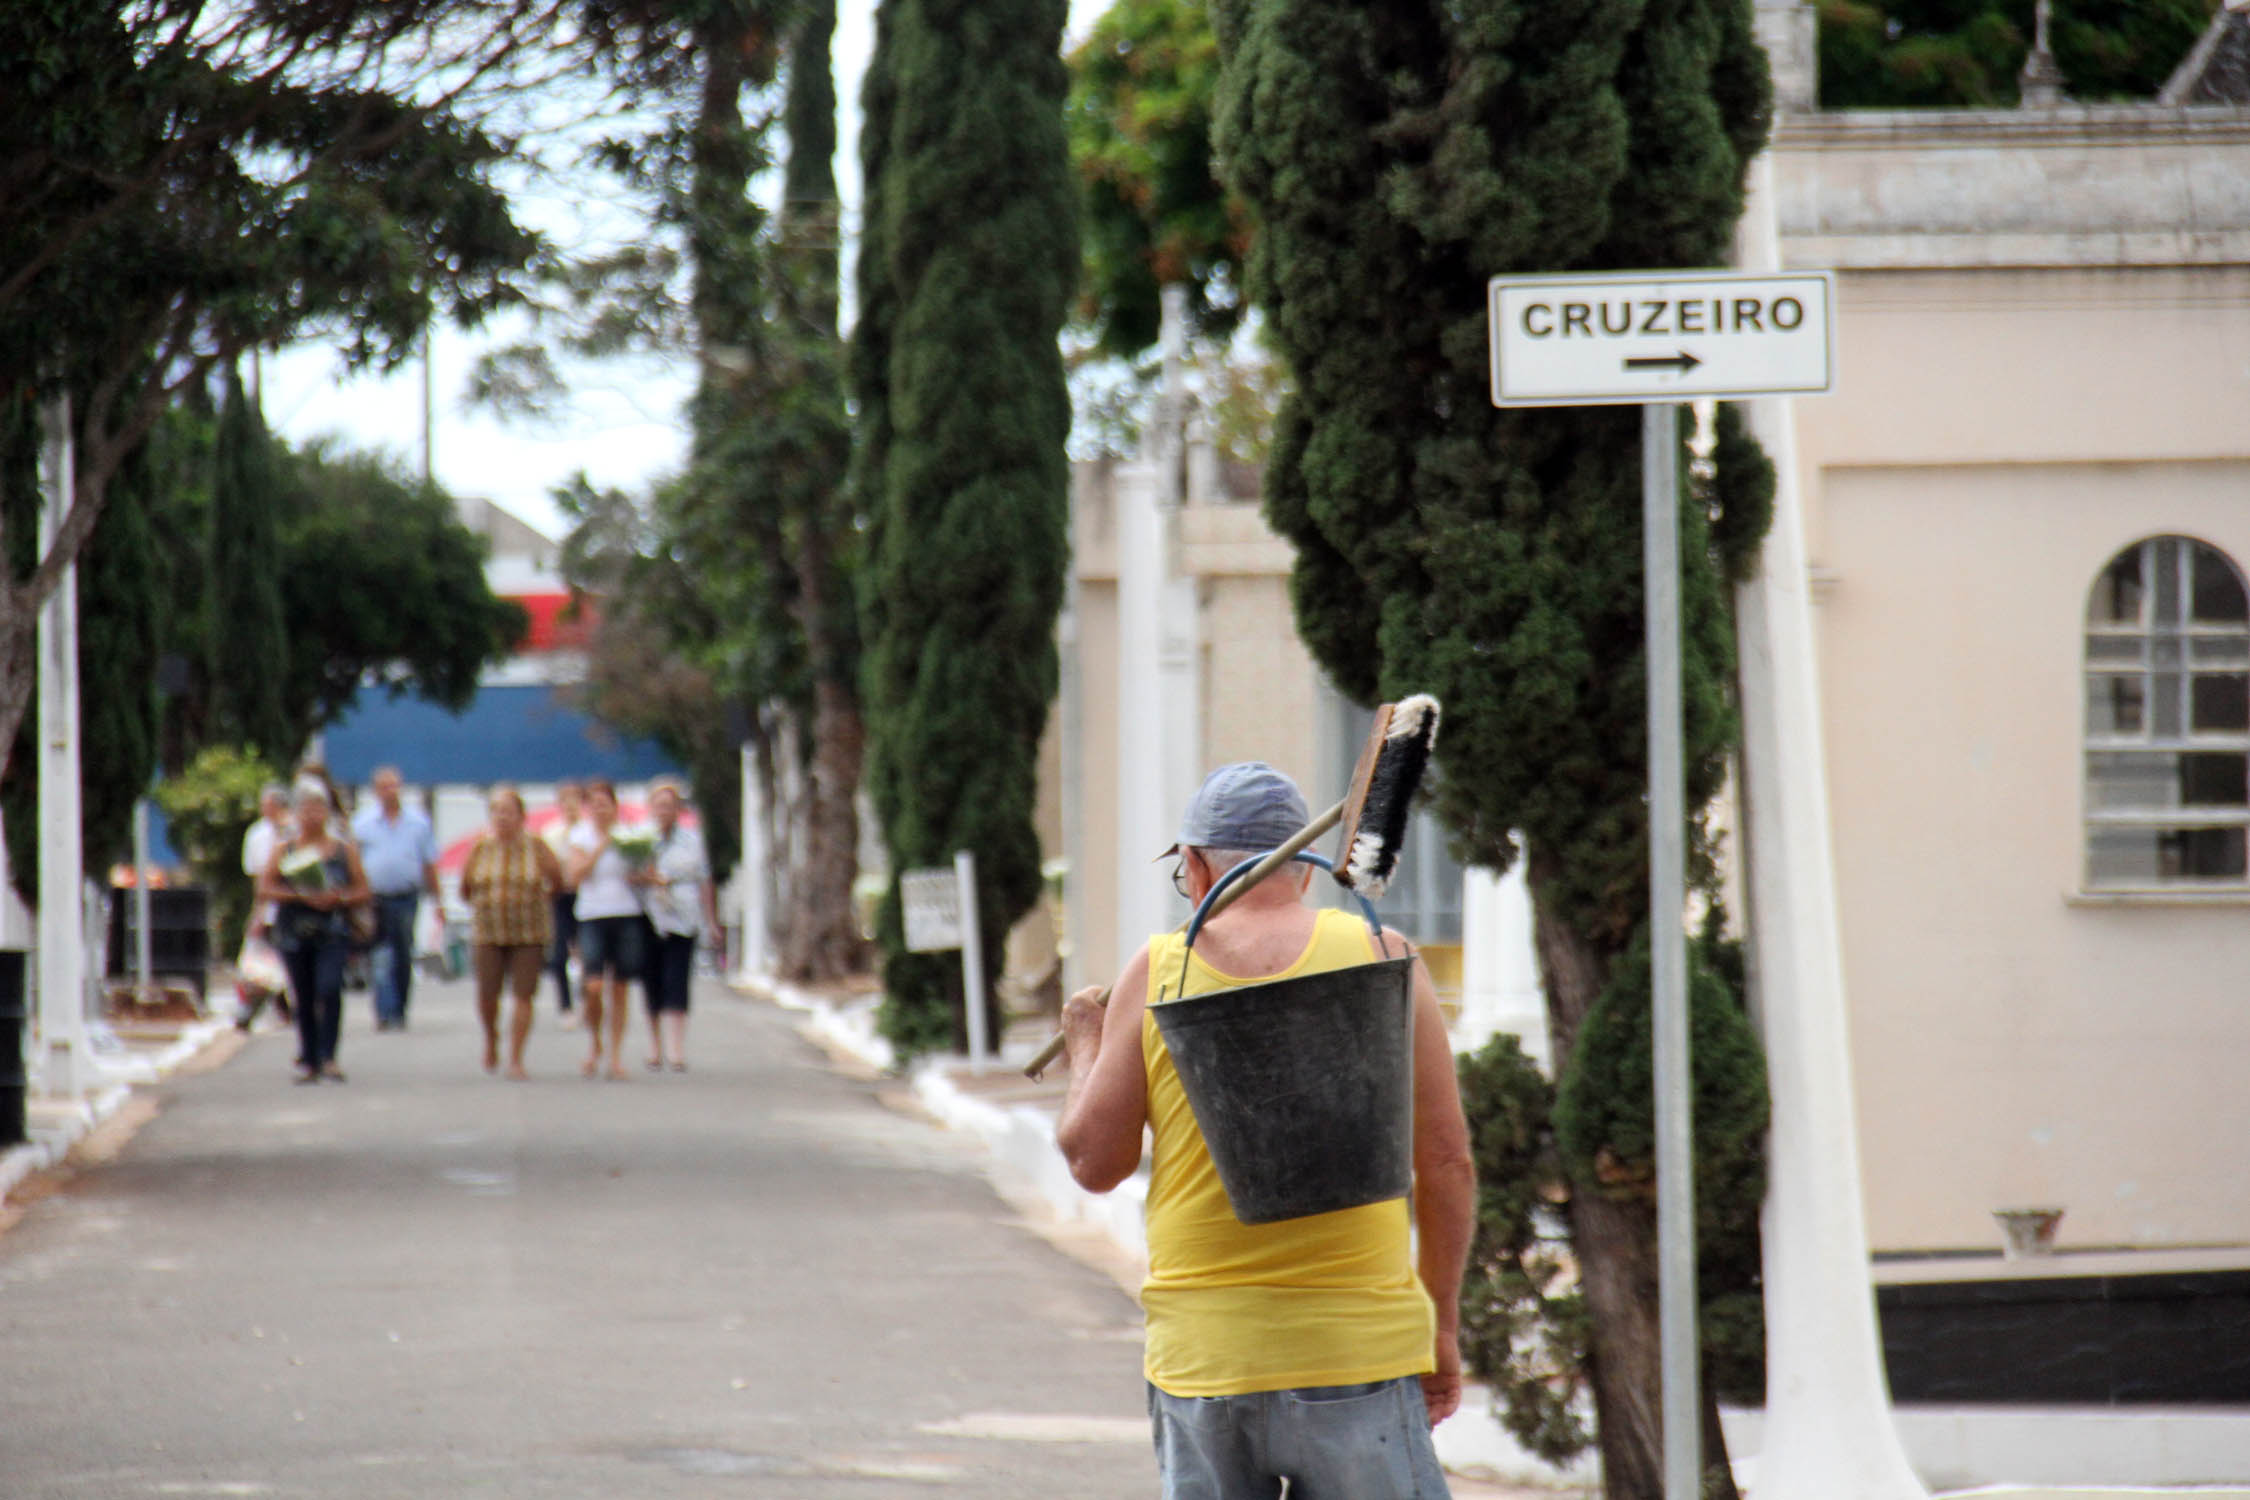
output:
[[[79,396],[56,558],[0,589],[0,744],[32,612],[176,396],[308,333],[396,360],[436,306],[475,322],[515,297],[538,241],[490,182],[508,142],[468,99],[520,45],[520,9],[248,0],[218,25],[200,4],[0,7],[0,371]]]

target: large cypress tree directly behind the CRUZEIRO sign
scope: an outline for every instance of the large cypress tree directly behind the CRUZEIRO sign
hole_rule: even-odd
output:
[[[1604,1482],[1654,1498],[1640,418],[1496,412],[1483,283],[1726,259],[1768,115],[1750,7],[1215,0],[1213,20],[1220,155],[1260,220],[1251,292],[1296,376],[1267,513],[1298,549],[1298,627],[1354,697],[1447,704],[1436,807],[1465,857],[1526,861]],[[1726,434],[1681,508],[1696,810],[1735,740],[1726,585],[1768,493],[1732,416]],[[1724,987],[1694,994],[1696,1041],[1726,1039],[1696,1057],[1699,1154],[1755,1214],[1755,1041]],[[1730,1496],[1708,1397],[1706,1453]]]

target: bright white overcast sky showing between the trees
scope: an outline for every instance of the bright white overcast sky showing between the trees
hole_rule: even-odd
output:
[[[1084,34],[1109,0],[1071,0],[1071,36]],[[839,0],[835,36],[837,99],[837,191],[846,225],[860,205],[860,72],[873,43],[875,0]],[[522,218],[560,247],[572,250],[614,238],[616,214],[603,211],[592,184],[542,182],[520,198]],[[461,405],[477,355],[495,342],[522,337],[522,328],[459,333],[441,328],[434,340],[436,479],[454,495],[495,499],[533,526],[560,535],[562,524],[549,493],[585,470],[594,484],[637,488],[675,468],[684,452],[680,407],[688,391],[684,362],[632,362],[612,369],[574,369],[572,409],[556,423],[502,423]],[[338,434],[356,448],[389,450],[421,470],[423,378],[421,367],[396,376],[351,376],[331,346],[299,344],[266,360],[266,421],[292,443]]]

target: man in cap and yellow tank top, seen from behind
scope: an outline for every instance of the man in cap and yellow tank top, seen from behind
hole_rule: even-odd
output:
[[[1177,879],[1202,902],[1233,866],[1310,823],[1296,783],[1220,767],[1181,819]],[[1359,918],[1305,902],[1310,866],[1269,875],[1204,924],[1159,936],[1107,996],[1062,1010],[1071,1088],[1055,1138],[1071,1176],[1148,1192],[1148,1406],[1168,1500],[1444,1496],[1429,1428],[1460,1406],[1460,1271],[1476,1176],[1438,996],[1413,965],[1413,1194],[1246,1226],[1228,1208],[1150,1014],[1184,994],[1372,963]],[[1402,951],[1386,936],[1390,954]],[[1411,1214],[1408,1214],[1411,1208]]]

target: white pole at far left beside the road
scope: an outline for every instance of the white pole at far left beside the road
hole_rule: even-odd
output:
[[[38,551],[76,493],[70,394],[40,407]],[[79,848],[79,569],[38,612],[38,1075],[50,1095],[81,1097],[86,1050],[86,868]]]

